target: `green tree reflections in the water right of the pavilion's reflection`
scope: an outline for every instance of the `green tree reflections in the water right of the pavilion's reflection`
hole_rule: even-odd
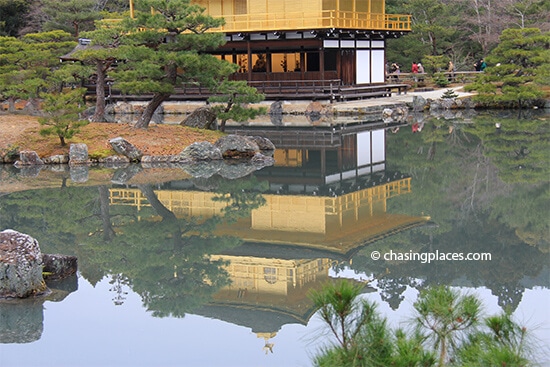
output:
[[[410,173],[413,191],[412,195],[388,200],[388,212],[427,214],[436,223],[436,226],[420,227],[385,238],[353,258],[354,270],[374,273],[381,278],[381,293],[392,307],[399,303],[404,286],[424,288],[446,284],[485,286],[499,297],[501,306],[513,310],[521,301],[525,277],[537,277],[548,263],[544,252],[548,251],[550,229],[548,217],[541,215],[548,212],[549,204],[549,175],[547,168],[542,171],[541,167],[547,161],[541,158],[542,155],[548,156],[547,144],[541,141],[549,140],[544,135],[548,133],[548,125],[545,121],[539,121],[537,126],[521,125],[519,132],[505,134],[510,141],[500,140],[494,142],[494,146],[490,142],[487,146],[485,140],[480,141],[475,135],[487,134],[503,139],[503,134],[495,132],[494,119],[481,121],[480,126],[475,121],[468,127],[457,127],[446,121],[427,121],[421,133],[405,131],[387,136],[388,169]],[[503,130],[514,126],[502,119],[499,121],[502,121]],[[541,124],[546,126],[543,128]],[[527,133],[529,129],[534,134]],[[477,133],[472,135],[472,131]],[[533,136],[536,134],[543,138]],[[499,144],[507,148],[499,148]],[[525,167],[531,167],[530,173],[521,176],[521,182],[503,182],[501,178],[520,176],[502,176],[499,160],[488,156],[487,151],[505,151],[518,145],[526,147],[524,153],[528,151],[529,157],[518,158],[516,152],[521,149],[511,149],[505,153],[507,158],[502,158],[503,162],[522,159]],[[505,170],[512,167],[511,164],[503,166]],[[527,178],[529,183],[526,183]],[[375,262],[369,256],[373,250],[381,253],[390,250],[488,252],[493,259],[483,263]],[[422,281],[408,284],[410,279]]]

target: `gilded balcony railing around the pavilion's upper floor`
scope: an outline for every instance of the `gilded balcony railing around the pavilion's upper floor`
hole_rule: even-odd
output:
[[[375,14],[322,11],[320,14],[289,12],[282,17],[273,14],[241,14],[224,17],[222,32],[265,32],[312,29],[353,29],[377,31],[410,31],[411,16],[401,14]]]

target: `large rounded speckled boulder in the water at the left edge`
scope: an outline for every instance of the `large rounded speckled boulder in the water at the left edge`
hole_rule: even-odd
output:
[[[38,241],[11,229],[0,232],[0,298],[27,298],[47,291]]]

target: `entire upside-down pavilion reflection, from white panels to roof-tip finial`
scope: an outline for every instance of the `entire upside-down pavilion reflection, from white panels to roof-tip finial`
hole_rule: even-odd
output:
[[[265,204],[218,226],[217,234],[243,244],[212,256],[228,261],[231,284],[197,313],[250,327],[272,351],[268,340],[283,325],[308,322],[315,312],[308,291],[321,288],[333,265],[429,218],[388,213],[388,200],[411,192],[411,178],[386,172],[384,129],[310,130],[294,141],[268,137],[278,147],[276,165],[255,174],[269,183]],[[212,200],[223,193],[200,191],[189,182],[164,185],[155,194],[179,218],[222,215],[227,205]],[[149,206],[134,188],[111,189],[110,201],[138,210]]]

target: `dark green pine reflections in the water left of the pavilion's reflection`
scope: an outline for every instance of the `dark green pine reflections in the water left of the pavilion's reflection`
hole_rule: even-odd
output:
[[[252,180],[226,180],[217,192],[236,220],[265,202]],[[80,273],[96,284],[110,277],[115,304],[129,287],[156,316],[183,317],[229,282],[222,261],[211,254],[240,244],[216,237],[223,218],[177,218],[150,185],[140,185],[150,207],[109,206],[107,186],[64,187],[5,195],[0,226],[36,237],[45,252],[76,255]],[[75,246],[78,244],[79,246]]]

